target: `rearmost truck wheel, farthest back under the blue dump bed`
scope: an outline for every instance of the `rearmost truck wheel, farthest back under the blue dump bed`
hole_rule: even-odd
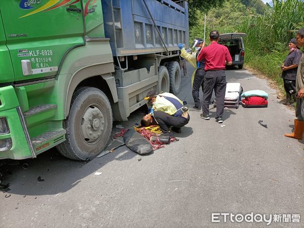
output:
[[[181,75],[178,62],[170,62],[167,66],[170,78],[170,93],[177,95],[180,91]]]

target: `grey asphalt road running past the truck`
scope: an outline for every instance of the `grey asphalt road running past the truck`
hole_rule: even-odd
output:
[[[188,66],[189,73],[192,70]],[[212,106],[210,121],[191,109],[189,124],[176,134],[179,141],[148,156],[123,146],[102,158],[76,162],[52,149],[34,160],[12,162],[4,181],[11,183],[11,190],[0,192],[0,226],[267,226],[266,222],[224,222],[223,217],[211,222],[211,213],[253,212],[267,218],[300,214],[300,223],[272,222],[271,226],[303,227],[303,141],[283,136],[292,130],[294,112],[279,103],[265,80],[244,69],[226,74],[228,82],[240,82],[244,91],[267,91],[269,107],[225,109],[225,127],[215,122]],[[190,77],[182,78],[178,96],[193,106]],[[129,122],[114,126],[129,128],[142,115],[138,111]],[[39,176],[43,182],[37,181]]]

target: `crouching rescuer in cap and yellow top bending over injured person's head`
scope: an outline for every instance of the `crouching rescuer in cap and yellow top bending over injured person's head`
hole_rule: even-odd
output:
[[[190,116],[188,108],[183,106],[183,102],[171,93],[156,94],[155,91],[150,91],[145,97],[148,100],[149,114],[145,115],[140,124],[143,127],[150,125],[159,125],[162,132],[171,134],[171,130],[176,133],[181,133],[181,127],[185,126]]]

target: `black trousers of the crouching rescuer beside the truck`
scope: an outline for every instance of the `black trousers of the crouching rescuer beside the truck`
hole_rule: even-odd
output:
[[[188,119],[186,119],[184,117],[170,116],[168,113],[163,111],[155,111],[154,119],[161,127],[162,132],[165,133],[169,131],[169,127],[181,128],[185,126],[189,122],[190,116],[188,115]]]

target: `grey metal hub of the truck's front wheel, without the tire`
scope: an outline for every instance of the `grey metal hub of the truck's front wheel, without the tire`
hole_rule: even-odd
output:
[[[89,144],[96,143],[104,130],[104,115],[97,104],[86,108],[81,121],[81,133],[84,140]]]

